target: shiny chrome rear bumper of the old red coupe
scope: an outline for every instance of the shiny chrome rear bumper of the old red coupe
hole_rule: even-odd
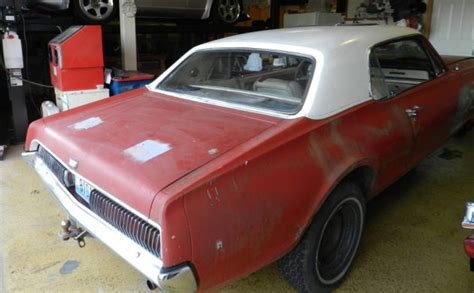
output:
[[[36,157],[36,152],[25,152],[22,156],[28,164],[33,166],[49,191],[69,214],[71,220],[102,241],[150,281],[158,285],[162,291],[196,291],[197,283],[190,266],[182,265],[173,269],[163,268],[163,263],[159,258],[80,204],[56,179],[45,163]]]

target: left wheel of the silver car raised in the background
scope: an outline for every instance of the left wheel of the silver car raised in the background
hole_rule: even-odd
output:
[[[105,24],[118,12],[116,0],[72,0],[74,15],[87,24]]]

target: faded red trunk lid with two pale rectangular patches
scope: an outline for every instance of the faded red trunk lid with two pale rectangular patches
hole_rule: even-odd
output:
[[[157,192],[278,120],[141,90],[45,119],[40,141],[148,216]]]

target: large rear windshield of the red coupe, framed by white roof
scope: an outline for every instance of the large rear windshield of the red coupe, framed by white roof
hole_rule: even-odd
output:
[[[314,71],[307,57],[255,50],[209,50],[191,55],[158,89],[200,99],[297,113]]]

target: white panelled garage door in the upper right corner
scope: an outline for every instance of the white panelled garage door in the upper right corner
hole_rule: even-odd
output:
[[[474,56],[474,1],[434,0],[430,41],[441,54]]]

